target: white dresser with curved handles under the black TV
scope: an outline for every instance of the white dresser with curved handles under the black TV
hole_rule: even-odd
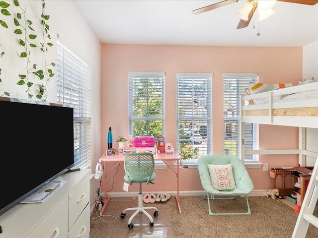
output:
[[[18,204],[4,213],[0,238],[89,238],[89,174],[64,174],[55,180],[66,183],[43,203]]]

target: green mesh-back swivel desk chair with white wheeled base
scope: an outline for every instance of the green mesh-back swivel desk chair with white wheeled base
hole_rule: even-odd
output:
[[[127,181],[129,184],[133,184],[134,182],[139,183],[138,207],[126,208],[120,217],[125,218],[126,211],[136,210],[128,220],[128,228],[132,229],[134,227],[132,220],[139,212],[144,213],[150,219],[150,226],[153,227],[154,219],[146,210],[155,209],[154,217],[158,217],[158,209],[156,207],[143,206],[143,193],[141,185],[142,183],[153,183],[152,181],[156,179],[156,174],[154,173],[154,155],[151,153],[126,154],[124,158],[124,169],[126,173],[124,176],[125,181]]]

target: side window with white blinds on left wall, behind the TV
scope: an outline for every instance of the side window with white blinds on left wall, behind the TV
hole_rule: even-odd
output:
[[[90,67],[57,44],[57,101],[74,108],[73,168],[90,168]]]

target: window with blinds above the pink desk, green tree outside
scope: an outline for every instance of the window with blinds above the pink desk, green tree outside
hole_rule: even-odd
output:
[[[129,72],[129,133],[164,136],[164,72]]]

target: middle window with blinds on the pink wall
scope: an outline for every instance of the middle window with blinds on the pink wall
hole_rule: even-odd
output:
[[[197,163],[212,151],[212,73],[177,73],[177,151]]]

